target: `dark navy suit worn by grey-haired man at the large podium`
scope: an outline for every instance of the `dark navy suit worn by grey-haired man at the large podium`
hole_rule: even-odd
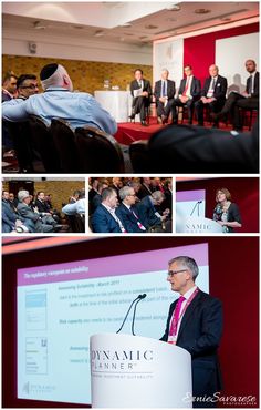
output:
[[[160,340],[168,340],[169,324],[177,300],[169,308],[167,326]],[[222,305],[199,290],[182,317],[177,346],[192,359],[192,394],[211,396],[222,388],[217,349],[222,335]]]

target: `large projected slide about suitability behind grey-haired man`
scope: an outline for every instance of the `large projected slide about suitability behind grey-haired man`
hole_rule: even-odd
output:
[[[90,337],[116,332],[132,303],[135,334],[159,339],[178,294],[168,260],[196,259],[209,291],[208,245],[198,244],[18,270],[18,398],[91,403]],[[132,314],[123,332],[132,332]]]

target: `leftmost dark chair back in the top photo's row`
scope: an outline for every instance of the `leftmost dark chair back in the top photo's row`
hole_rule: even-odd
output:
[[[32,135],[28,121],[24,122],[10,122],[4,121],[8,132],[13,141],[13,148],[18,160],[19,172],[34,173],[33,167],[33,148]]]

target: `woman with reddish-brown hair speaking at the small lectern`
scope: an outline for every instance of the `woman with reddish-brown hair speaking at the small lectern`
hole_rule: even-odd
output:
[[[233,232],[233,228],[241,228],[239,207],[231,202],[231,194],[227,188],[216,191],[216,202],[213,221],[222,226],[222,232]]]

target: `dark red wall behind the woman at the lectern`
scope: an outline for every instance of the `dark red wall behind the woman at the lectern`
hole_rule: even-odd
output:
[[[237,233],[259,232],[259,178],[209,178],[177,182],[177,191],[206,189],[206,217],[212,219],[216,191],[227,188],[239,206],[242,227]]]

